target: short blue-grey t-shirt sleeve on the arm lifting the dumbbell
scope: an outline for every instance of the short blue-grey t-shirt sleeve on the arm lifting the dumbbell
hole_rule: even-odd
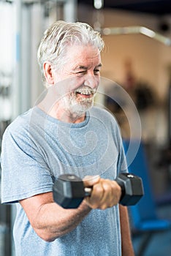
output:
[[[11,125],[1,147],[1,203],[17,203],[53,189],[53,178],[29,132]]]

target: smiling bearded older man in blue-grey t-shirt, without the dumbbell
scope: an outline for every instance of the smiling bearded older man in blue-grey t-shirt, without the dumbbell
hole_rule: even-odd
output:
[[[121,135],[115,118],[93,106],[103,48],[86,23],[57,21],[42,37],[37,56],[47,90],[7,127],[2,143],[2,203],[17,208],[16,256],[134,255],[114,181],[126,172]],[[76,209],[53,200],[61,173],[93,187]]]

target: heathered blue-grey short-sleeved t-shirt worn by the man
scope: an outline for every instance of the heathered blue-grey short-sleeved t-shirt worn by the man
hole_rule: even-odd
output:
[[[16,255],[121,256],[118,206],[92,210],[75,230],[49,243],[34,232],[18,200],[51,192],[63,173],[113,180],[125,167],[120,131],[106,110],[91,108],[78,124],[58,121],[37,107],[16,118],[4,132],[1,151],[1,201],[17,206]]]

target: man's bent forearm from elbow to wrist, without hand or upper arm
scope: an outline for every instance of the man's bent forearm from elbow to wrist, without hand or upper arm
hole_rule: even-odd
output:
[[[54,241],[74,230],[90,211],[86,203],[77,209],[63,209],[56,206],[56,203],[48,203],[39,209],[33,227],[42,239]]]

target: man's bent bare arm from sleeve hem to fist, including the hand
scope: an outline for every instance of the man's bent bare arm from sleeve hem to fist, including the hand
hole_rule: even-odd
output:
[[[108,208],[118,204],[121,187],[115,182],[100,178],[88,178],[93,186],[91,197],[83,200],[77,209],[64,209],[53,201],[53,193],[47,192],[20,200],[31,226],[45,241],[54,241],[72,231],[91,211],[91,208]],[[113,196],[115,195],[115,197]]]

